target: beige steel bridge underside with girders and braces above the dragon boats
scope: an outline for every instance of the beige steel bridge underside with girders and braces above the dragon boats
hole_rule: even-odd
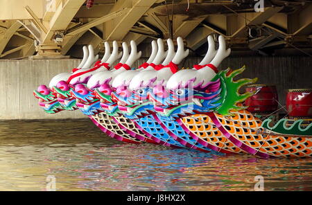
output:
[[[151,39],[178,36],[193,55],[202,55],[210,34],[223,35],[234,55],[312,53],[312,3],[306,1],[270,1],[260,12],[254,10],[257,1],[95,0],[91,8],[86,3],[2,2],[0,58],[81,57],[86,44],[101,55],[103,42],[133,39],[145,48]]]

